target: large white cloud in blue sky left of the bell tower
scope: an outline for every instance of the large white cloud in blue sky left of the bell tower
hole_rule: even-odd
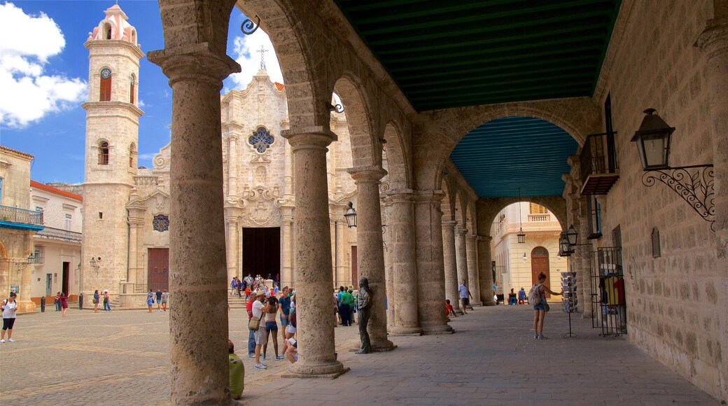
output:
[[[25,127],[84,100],[83,79],[43,74],[48,58],[66,47],[63,33],[50,17],[27,15],[12,3],[0,4],[0,38],[6,39],[0,49],[0,124]]]

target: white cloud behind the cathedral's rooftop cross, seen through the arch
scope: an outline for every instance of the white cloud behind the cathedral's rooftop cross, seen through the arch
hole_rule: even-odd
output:
[[[280,72],[280,65],[278,64],[278,58],[275,56],[273,44],[263,30],[258,29],[255,33],[250,35],[236,36],[233,39],[233,56],[237,63],[240,63],[242,72],[233,73],[230,78],[236,84],[237,89],[245,89],[251,80],[253,75],[258,73],[258,69],[261,68],[261,52],[256,52],[263,46],[268,52],[264,52],[266,71],[268,76],[271,77],[271,81],[277,81],[283,83],[283,75]]]

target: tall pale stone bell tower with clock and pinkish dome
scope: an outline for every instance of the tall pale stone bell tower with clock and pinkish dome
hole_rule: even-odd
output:
[[[93,28],[89,50],[84,164],[84,225],[79,290],[118,294],[127,280],[125,204],[137,173],[139,60],[137,31],[118,4]],[[95,263],[90,260],[94,258]]]

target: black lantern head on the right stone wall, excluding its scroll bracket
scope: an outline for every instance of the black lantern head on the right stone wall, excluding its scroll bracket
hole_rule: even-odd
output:
[[[643,170],[660,170],[670,167],[668,164],[670,136],[675,131],[675,127],[670,127],[655,112],[654,108],[644,111],[642,124],[632,137],[632,142],[637,143]]]

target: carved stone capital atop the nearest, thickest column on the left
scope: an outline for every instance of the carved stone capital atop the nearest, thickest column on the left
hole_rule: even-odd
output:
[[[170,86],[179,80],[209,79],[222,87],[222,80],[230,73],[241,71],[240,64],[232,57],[216,54],[207,42],[150,51],[146,58],[162,68],[170,78]]]

